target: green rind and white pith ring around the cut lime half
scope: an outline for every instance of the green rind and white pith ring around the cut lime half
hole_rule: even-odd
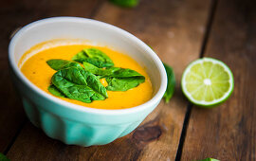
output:
[[[218,99],[215,99],[213,101],[210,101],[210,102],[207,102],[207,101],[198,101],[194,98],[192,98],[191,94],[187,91],[186,87],[185,87],[185,84],[186,84],[186,80],[185,80],[185,76],[190,72],[190,69],[192,68],[192,66],[194,64],[197,64],[197,63],[203,63],[203,62],[211,62],[211,63],[218,63],[220,64],[224,69],[225,71],[229,74],[229,84],[230,84],[230,87],[229,87],[229,90],[228,92],[225,93],[225,95],[222,97],[222,98],[218,98]],[[188,98],[193,104],[199,106],[199,107],[204,107],[204,108],[212,108],[212,107],[215,107],[223,102],[225,102],[229,97],[230,95],[232,94],[233,92],[233,88],[234,88],[234,80],[233,80],[233,74],[231,72],[231,70],[229,69],[229,66],[226,65],[225,63],[219,61],[219,60],[216,60],[216,59],[212,59],[212,58],[202,58],[202,59],[198,59],[192,63],[190,63],[187,68],[185,69],[185,71],[183,72],[182,74],[182,79],[181,79],[181,87],[182,87],[182,92],[183,94],[186,96],[186,98]]]

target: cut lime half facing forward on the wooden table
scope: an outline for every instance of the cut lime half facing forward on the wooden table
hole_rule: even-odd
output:
[[[193,104],[211,107],[229,98],[234,88],[234,80],[225,63],[202,58],[185,69],[181,86],[184,95]]]

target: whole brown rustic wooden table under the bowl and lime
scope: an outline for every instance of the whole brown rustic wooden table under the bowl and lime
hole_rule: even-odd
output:
[[[9,78],[8,45],[17,27],[51,16],[81,16],[121,27],[174,67],[174,98],[132,134],[105,146],[66,146],[35,128]],[[11,160],[256,160],[256,9],[241,0],[141,0],[121,9],[103,0],[8,0],[0,9],[0,152]],[[201,57],[231,68],[224,104],[201,109],[184,98],[181,74]]]

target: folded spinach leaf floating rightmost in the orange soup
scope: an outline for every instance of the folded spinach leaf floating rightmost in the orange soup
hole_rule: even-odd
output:
[[[109,91],[127,91],[145,81],[144,76],[131,69],[120,67],[101,69],[90,63],[83,63],[83,66],[84,70],[98,75],[100,78],[106,78],[108,82],[106,89]]]

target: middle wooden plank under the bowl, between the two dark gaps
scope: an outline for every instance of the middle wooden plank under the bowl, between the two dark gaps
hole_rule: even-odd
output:
[[[137,130],[105,146],[65,146],[47,138],[30,124],[22,130],[8,152],[13,160],[174,160],[188,102],[180,90],[180,77],[187,63],[198,58],[208,1],[141,0],[135,9],[120,9],[105,2],[96,19],[135,34],[153,46],[158,56],[174,66],[176,92],[163,102]],[[42,145],[39,145],[42,143]]]

